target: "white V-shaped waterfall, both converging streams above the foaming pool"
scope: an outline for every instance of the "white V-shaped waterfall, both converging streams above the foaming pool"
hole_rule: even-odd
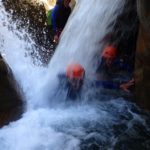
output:
[[[86,75],[95,71],[93,57],[97,52],[100,54],[102,44],[99,43],[111,30],[111,27],[108,26],[114,22],[117,17],[116,12],[121,11],[123,4],[124,2],[120,0],[111,2],[96,0],[90,1],[88,5],[85,0],[78,1],[48,68],[36,67],[30,57],[25,57],[26,53],[34,49],[34,42],[24,30],[21,31],[22,33],[17,31],[15,24],[11,27],[13,33],[8,31],[7,26],[10,21],[7,20],[8,17],[5,18],[6,26],[2,26],[1,37],[4,38],[3,49],[6,61],[19,80],[29,107],[48,106],[50,99],[53,99],[51,95],[55,94],[54,91],[58,85],[57,74],[65,72],[70,62],[78,62],[83,65]]]

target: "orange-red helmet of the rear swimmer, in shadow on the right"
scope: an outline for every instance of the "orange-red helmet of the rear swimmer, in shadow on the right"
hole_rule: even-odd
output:
[[[102,52],[103,58],[115,58],[117,55],[117,48],[114,46],[107,46]]]

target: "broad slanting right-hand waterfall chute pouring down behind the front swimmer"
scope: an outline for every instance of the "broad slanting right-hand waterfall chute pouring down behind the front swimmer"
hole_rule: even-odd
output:
[[[93,56],[98,51],[100,54],[101,41],[113,28],[123,5],[124,1],[118,0],[79,0],[64,29],[50,66],[59,62],[63,62],[64,66],[70,62],[79,62],[87,72],[91,71]],[[110,24],[112,25],[109,26]]]

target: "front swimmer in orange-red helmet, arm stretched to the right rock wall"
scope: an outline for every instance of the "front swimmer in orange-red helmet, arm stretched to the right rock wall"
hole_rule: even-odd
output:
[[[82,86],[85,80],[85,69],[78,63],[69,64],[66,68],[65,74],[60,74],[59,79],[61,82],[61,87],[67,89],[67,97],[70,99],[77,99],[80,97]],[[65,82],[64,80],[65,79]],[[93,81],[90,81],[91,87],[104,88],[104,89],[114,89],[114,90],[123,90],[129,92],[130,86],[134,84],[134,80],[129,82],[114,82],[112,80],[103,80],[97,78]]]

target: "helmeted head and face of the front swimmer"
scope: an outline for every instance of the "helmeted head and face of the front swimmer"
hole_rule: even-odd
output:
[[[70,64],[66,70],[66,77],[68,83],[74,90],[79,90],[83,85],[85,70],[77,63]]]

